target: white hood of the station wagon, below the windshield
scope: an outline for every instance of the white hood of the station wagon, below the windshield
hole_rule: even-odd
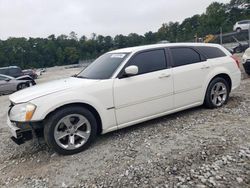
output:
[[[18,104],[31,101],[33,99],[43,97],[52,93],[68,90],[75,87],[86,87],[98,80],[82,79],[82,78],[66,78],[56,81],[51,81],[30,88],[23,89],[10,95],[10,101]]]

